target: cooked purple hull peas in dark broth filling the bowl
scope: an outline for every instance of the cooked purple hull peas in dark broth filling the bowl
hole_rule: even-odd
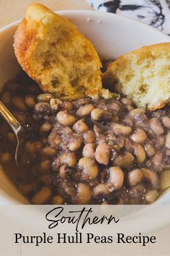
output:
[[[30,140],[0,118],[0,159],[32,204],[146,204],[170,186],[170,107],[135,108],[128,98],[63,102],[29,77],[4,85],[1,101]]]

